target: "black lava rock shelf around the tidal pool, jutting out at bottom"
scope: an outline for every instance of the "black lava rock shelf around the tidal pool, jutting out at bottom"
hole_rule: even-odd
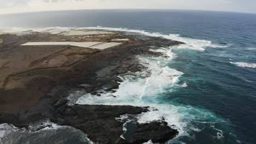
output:
[[[124,134],[124,122],[117,121],[116,118],[126,113],[137,115],[147,112],[148,107],[63,105],[61,109],[51,121],[80,129],[95,143],[144,143],[149,140],[162,143],[178,134],[178,131],[168,127],[166,122],[136,123],[131,138],[121,139],[120,136]]]

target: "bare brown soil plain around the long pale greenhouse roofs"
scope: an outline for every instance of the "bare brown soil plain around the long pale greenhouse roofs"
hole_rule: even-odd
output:
[[[27,109],[57,81],[75,77],[108,51],[76,46],[20,46],[28,41],[109,41],[119,34],[63,36],[49,33],[17,36],[0,35],[0,113]],[[115,49],[137,45],[129,42]],[[85,63],[85,65],[84,65]],[[83,65],[83,67],[75,67]]]

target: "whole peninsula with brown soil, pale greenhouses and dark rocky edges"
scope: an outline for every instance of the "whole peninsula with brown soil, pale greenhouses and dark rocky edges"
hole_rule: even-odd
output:
[[[164,143],[178,130],[162,118],[139,123],[133,115],[153,107],[79,105],[79,91],[114,93],[118,75],[145,69],[138,55],[161,56],[154,47],[183,44],[159,37],[97,29],[0,29],[0,123],[30,130],[50,121],[82,130],[95,143]],[[157,111],[157,109],[154,109]],[[123,115],[130,121],[121,121]],[[130,126],[129,126],[130,125]],[[50,125],[42,125],[37,130]]]

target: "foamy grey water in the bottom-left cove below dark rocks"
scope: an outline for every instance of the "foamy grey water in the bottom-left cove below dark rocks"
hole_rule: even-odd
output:
[[[42,128],[42,129],[41,129]],[[67,132],[65,132],[67,131]],[[88,139],[88,137],[80,130],[74,129],[68,126],[61,126],[49,121],[43,122],[42,124],[34,124],[25,128],[16,128],[12,124],[3,123],[0,124],[0,144],[5,143],[35,143],[38,140],[47,140],[49,139],[52,143],[60,143],[63,140],[62,136],[55,137],[60,134],[71,133],[73,136],[79,137],[84,143],[92,144],[93,142]],[[55,137],[54,139],[51,136]]]

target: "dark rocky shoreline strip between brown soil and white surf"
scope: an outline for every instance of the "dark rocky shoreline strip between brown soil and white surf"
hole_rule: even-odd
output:
[[[124,34],[123,32],[118,33]],[[124,134],[124,122],[118,122],[115,118],[127,113],[134,115],[147,112],[149,111],[147,107],[67,105],[68,95],[77,90],[100,96],[98,91],[103,86],[108,86],[107,89],[105,88],[105,91],[114,92],[113,89],[117,89],[120,85],[118,82],[121,82],[120,78],[117,77],[119,74],[124,74],[126,71],[135,73],[144,69],[144,66],[139,64],[136,59],[137,55],[150,55],[153,57],[161,55],[161,53],[149,51],[149,46],[152,44],[156,46],[182,44],[178,41],[157,37],[144,36],[149,39],[145,41],[138,39],[136,35],[125,36],[132,41],[136,41],[134,45],[123,45],[114,49],[97,52],[95,55],[86,59],[86,61],[73,65],[73,69],[77,73],[73,73],[73,75],[72,73],[67,74],[65,76],[66,80],[62,79],[50,86],[51,91],[48,91],[49,88],[45,88],[45,92],[48,91],[48,93],[39,98],[38,105],[14,113],[1,113],[0,122],[12,123],[16,127],[28,127],[30,123],[35,123],[42,119],[50,119],[51,122],[60,125],[70,125],[83,130],[90,140],[100,143],[143,143],[149,140],[153,142],[165,142],[173,139],[178,134],[178,131],[168,127],[164,121],[149,124],[135,122],[135,127],[138,131],[133,131],[133,137],[129,141],[121,139],[120,136]],[[114,70],[110,67],[114,67]],[[104,69],[102,72],[103,77],[99,77],[96,71],[102,69]],[[104,112],[109,114],[104,115]],[[97,120],[95,117],[97,117]],[[14,120],[15,118],[17,120]],[[108,122],[106,122],[106,118]],[[92,125],[95,126],[91,127]],[[111,137],[107,134],[109,133],[109,128],[112,131]],[[101,131],[95,131],[95,129],[101,129]],[[107,133],[102,129],[105,129]],[[159,133],[161,135],[150,135],[149,131],[152,131],[153,134]]]

